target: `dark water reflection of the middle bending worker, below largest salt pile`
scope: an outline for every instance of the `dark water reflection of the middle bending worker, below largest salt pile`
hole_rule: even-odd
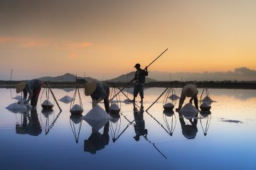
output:
[[[92,134],[84,142],[84,151],[96,154],[97,150],[103,149],[110,142],[110,121],[104,125],[103,134],[100,134],[97,130],[92,129]]]

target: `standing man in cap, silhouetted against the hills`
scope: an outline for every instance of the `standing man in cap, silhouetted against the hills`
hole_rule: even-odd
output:
[[[134,67],[137,69],[137,71],[135,72],[134,79],[131,80],[131,82],[135,80],[134,98],[132,102],[135,102],[135,98],[139,94],[139,96],[141,97],[141,101],[139,103],[143,103],[143,98],[144,98],[143,86],[145,84],[145,79],[146,79],[145,77],[148,76],[149,73],[147,71],[147,67],[145,69],[141,69],[139,63],[135,64]]]

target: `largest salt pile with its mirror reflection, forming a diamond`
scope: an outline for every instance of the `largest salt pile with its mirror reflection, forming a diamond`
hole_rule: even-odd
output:
[[[111,118],[100,106],[95,106],[82,117],[94,130],[100,130]]]

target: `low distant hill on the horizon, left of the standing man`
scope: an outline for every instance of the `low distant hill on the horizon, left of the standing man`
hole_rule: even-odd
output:
[[[38,79],[40,79],[41,81],[75,81],[76,77],[74,74],[66,73],[58,77],[41,77]],[[84,78],[78,77],[78,79],[84,79]],[[85,77],[85,80],[92,81],[93,79],[91,77]]]

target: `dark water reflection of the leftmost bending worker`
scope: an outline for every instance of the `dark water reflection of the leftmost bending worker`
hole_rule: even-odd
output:
[[[42,132],[41,124],[38,120],[38,113],[36,108],[31,109],[31,114],[28,112],[23,113],[23,123],[16,124],[17,134],[28,134],[32,136],[38,136]]]

